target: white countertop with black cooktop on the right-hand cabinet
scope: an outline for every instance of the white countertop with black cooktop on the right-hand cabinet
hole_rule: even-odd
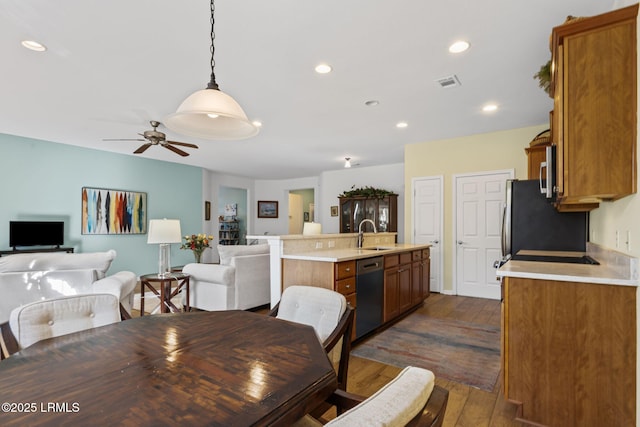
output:
[[[521,251],[519,254],[577,256],[584,252]],[[605,285],[640,286],[628,265],[607,262],[606,257],[593,256],[600,265],[568,264],[538,261],[509,261],[497,270],[499,277],[521,277],[526,279],[558,280],[565,282],[596,283]]]

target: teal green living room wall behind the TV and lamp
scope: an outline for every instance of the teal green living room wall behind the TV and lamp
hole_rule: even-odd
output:
[[[0,249],[9,249],[9,221],[63,220],[65,246],[76,252],[115,249],[109,273],[157,271],[158,247],[147,235],[82,235],[82,187],[147,193],[147,220],[180,219],[185,230],[202,228],[202,170],[124,154],[0,134]],[[171,263],[192,262],[174,244]]]

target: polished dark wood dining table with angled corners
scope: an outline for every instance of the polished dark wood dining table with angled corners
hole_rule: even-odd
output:
[[[290,425],[336,387],[309,326],[247,311],[157,314],[0,362],[0,426]]]

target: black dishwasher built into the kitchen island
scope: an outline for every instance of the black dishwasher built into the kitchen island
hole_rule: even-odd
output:
[[[382,257],[356,261],[356,339],[382,324],[383,303]]]

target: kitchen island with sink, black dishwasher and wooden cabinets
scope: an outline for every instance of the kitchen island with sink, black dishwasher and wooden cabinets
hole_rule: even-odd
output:
[[[396,233],[249,236],[271,245],[271,295],[292,285],[342,293],[356,309],[353,338],[401,318],[429,296],[428,244],[394,243]],[[276,300],[277,301],[277,300]]]

